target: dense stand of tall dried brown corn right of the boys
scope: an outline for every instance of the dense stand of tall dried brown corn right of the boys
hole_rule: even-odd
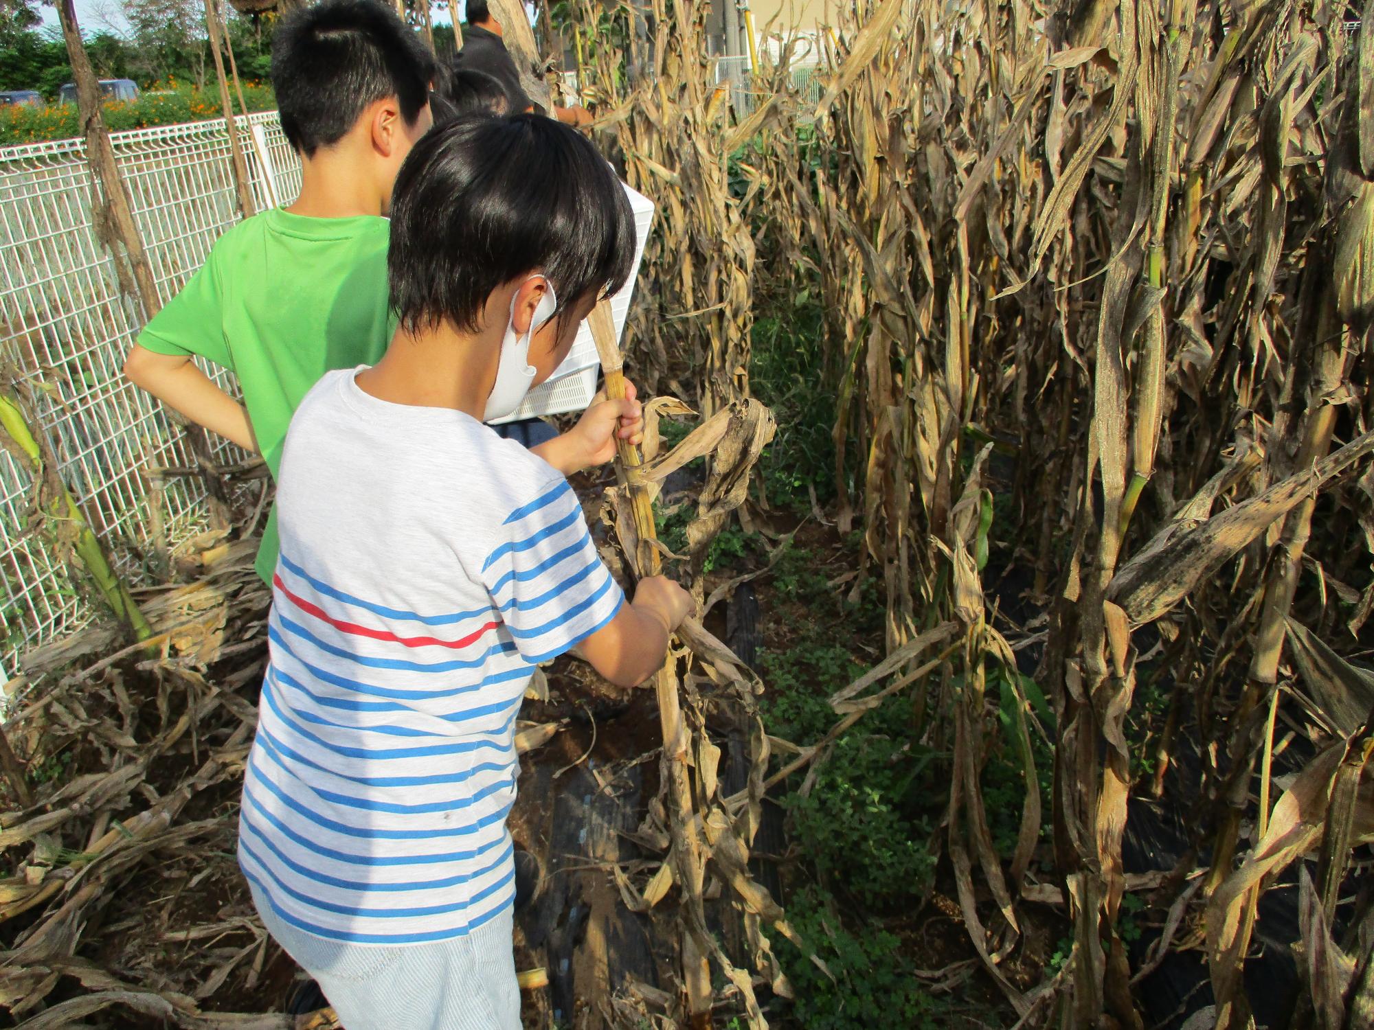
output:
[[[948,750],[959,906],[1022,1023],[1142,1027],[1135,985],[1191,949],[1200,1025],[1253,1025],[1259,898],[1294,862],[1294,1025],[1374,1019],[1367,879],[1348,897],[1374,835],[1374,5],[1351,32],[1358,14],[860,0],[820,103],[783,47],[741,121],[680,0],[624,8],[657,34],[580,69],[661,205],[635,323],[660,390],[746,397],[756,309],[823,297],[838,520],[883,585],[888,689],[919,691],[915,733]],[[1028,790],[998,853],[987,680],[1022,651],[1052,718],[1018,698]],[[837,729],[866,678],[831,699]],[[1149,772],[1124,732],[1145,687],[1168,699]],[[1032,735],[1052,740],[1048,812]],[[1143,963],[1118,932],[1134,799],[1190,832],[1146,878],[1168,915]],[[1043,820],[1051,876],[1032,871]],[[1030,897],[1062,905],[1073,945],[1024,992],[1002,967]]]

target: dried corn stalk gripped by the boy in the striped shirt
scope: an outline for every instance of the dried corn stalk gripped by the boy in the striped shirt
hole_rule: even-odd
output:
[[[625,380],[609,305],[599,304],[588,323],[606,374],[606,394],[622,397]],[[772,416],[767,408],[757,401],[739,401],[719,411],[673,450],[650,464],[642,461],[638,448],[625,442],[618,445],[620,485],[607,492],[606,508],[632,577],[657,575],[662,567],[653,515],[657,485],[683,464],[712,456],[699,516],[688,527],[691,540],[709,541],[719,531],[723,516],[743,503],[749,471],[772,433]],[[736,968],[714,939],[706,924],[703,904],[705,895],[714,893],[710,886],[713,879],[734,894],[745,912],[753,961],[776,990],[786,992],[764,935],[764,923],[791,939],[797,935],[782,908],[749,872],[749,845],[758,828],[763,770],[768,762],[767,737],[753,705],[757,681],[699,623],[688,619],[679,636],[686,650],[672,651],[654,677],[664,732],[664,797],[650,806],[649,820],[639,834],[643,840],[662,840],[668,854],[642,891],[622,873],[618,879],[627,902],[636,911],[662,901],[671,884],[679,887],[686,1022],[690,1026],[709,1025],[714,1004],[710,976],[714,965],[743,1000],[749,1026],[761,1030],[768,1023],[756,1000],[754,978],[749,971]],[[731,710],[734,721],[749,726],[752,773],[739,797],[727,798],[721,791],[717,776],[721,750],[706,732],[708,705]]]

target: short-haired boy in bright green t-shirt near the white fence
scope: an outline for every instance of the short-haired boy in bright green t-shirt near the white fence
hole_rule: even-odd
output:
[[[125,375],[207,430],[261,452],[273,478],[291,413],[320,376],[386,350],[386,213],[431,124],[434,56],[374,0],[326,0],[272,40],[282,129],[301,158],[290,207],[235,225],[143,330]],[[243,404],[192,361],[238,375]],[[258,574],[276,566],[276,519]]]

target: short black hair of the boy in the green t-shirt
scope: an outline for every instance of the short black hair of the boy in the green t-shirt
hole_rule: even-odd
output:
[[[338,143],[387,96],[414,125],[433,77],[434,55],[376,0],[324,0],[286,18],[272,37],[282,132],[305,157]]]

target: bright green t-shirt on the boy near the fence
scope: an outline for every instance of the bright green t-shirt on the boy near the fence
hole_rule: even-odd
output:
[[[386,218],[370,216],[271,210],[247,218],[220,236],[205,265],[139,334],[139,346],[231,369],[275,479],[301,398],[331,369],[375,364],[392,339],[387,231]],[[276,552],[273,511],[257,555],[268,582]]]

